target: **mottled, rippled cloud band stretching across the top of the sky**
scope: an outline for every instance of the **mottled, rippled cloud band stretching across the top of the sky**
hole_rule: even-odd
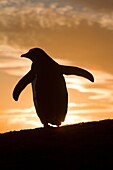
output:
[[[76,2],[76,1],[75,1]],[[74,4],[74,5],[73,5]],[[90,4],[90,3],[89,3]],[[102,3],[101,3],[102,4]],[[60,3],[59,1],[1,1],[0,26],[2,31],[15,32],[25,29],[57,28],[78,26],[86,20],[89,25],[98,23],[113,30],[112,11],[96,11],[87,3]],[[98,5],[97,5],[98,6]]]

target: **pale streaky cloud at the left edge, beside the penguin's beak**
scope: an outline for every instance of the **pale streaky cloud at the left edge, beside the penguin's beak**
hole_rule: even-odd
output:
[[[31,62],[19,57],[23,51],[7,44],[0,45],[0,69],[15,76],[26,73],[30,69]]]

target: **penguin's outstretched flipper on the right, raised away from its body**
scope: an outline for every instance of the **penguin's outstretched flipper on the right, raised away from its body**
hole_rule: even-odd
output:
[[[90,72],[88,72],[87,70],[84,70],[79,67],[73,67],[73,66],[60,65],[60,67],[61,67],[61,71],[63,74],[82,76],[84,78],[87,78],[91,82],[94,82],[93,75]]]

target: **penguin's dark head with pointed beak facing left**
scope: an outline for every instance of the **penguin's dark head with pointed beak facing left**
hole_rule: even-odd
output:
[[[32,48],[21,57],[29,58],[31,61],[37,61],[40,57],[44,58],[47,54],[41,48]]]

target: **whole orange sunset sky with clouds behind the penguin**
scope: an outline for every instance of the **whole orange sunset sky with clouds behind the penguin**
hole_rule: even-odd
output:
[[[34,47],[94,75],[94,83],[64,75],[69,102],[62,125],[113,119],[112,0],[0,0],[0,133],[42,127],[31,84],[18,102],[12,98],[31,68],[20,55]]]

